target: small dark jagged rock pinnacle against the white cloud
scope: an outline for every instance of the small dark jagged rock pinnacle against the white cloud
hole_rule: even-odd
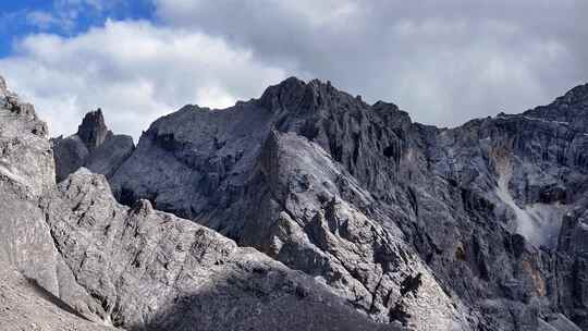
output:
[[[82,167],[109,177],[135,148],[131,136],[114,135],[107,128],[100,109],[84,117],[76,134],[51,140],[58,182]]]

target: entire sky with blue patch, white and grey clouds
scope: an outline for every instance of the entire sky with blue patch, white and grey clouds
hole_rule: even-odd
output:
[[[292,75],[453,126],[586,83],[587,15],[586,0],[1,1],[0,75],[52,135],[100,107],[137,138]]]

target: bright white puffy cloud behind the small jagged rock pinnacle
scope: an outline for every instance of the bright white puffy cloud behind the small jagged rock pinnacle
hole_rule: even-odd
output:
[[[285,77],[246,48],[137,21],[107,21],[71,38],[28,36],[0,60],[0,73],[36,105],[52,135],[75,132],[100,107],[113,131],[135,138],[181,106],[228,107]]]

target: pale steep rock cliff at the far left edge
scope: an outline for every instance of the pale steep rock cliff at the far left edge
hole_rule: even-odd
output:
[[[39,200],[54,189],[47,128],[32,105],[0,90],[0,262],[91,319],[94,306],[53,245]],[[10,273],[8,274],[10,275]],[[79,304],[84,303],[84,304]]]

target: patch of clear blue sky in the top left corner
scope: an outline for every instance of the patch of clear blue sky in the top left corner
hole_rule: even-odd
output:
[[[0,0],[0,57],[14,51],[19,39],[30,34],[64,37],[102,26],[111,20],[154,20],[149,0]]]

